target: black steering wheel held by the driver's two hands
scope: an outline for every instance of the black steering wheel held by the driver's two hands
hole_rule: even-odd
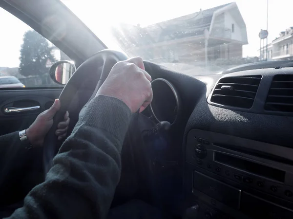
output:
[[[97,91],[99,90],[101,85],[104,83],[112,67],[117,62],[126,60],[127,58],[128,56],[122,52],[105,49],[89,57],[75,71],[75,73],[73,73],[73,75],[71,76],[71,78],[69,79],[68,83],[65,85],[65,87],[63,88],[63,91],[61,92],[59,96],[59,99],[61,102],[61,108],[55,114],[53,118],[53,125],[44,139],[44,144],[43,144],[44,174],[46,174],[51,168],[52,160],[59,150],[58,145],[60,143],[58,141],[57,136],[55,135],[57,126],[59,122],[63,121],[64,114],[68,110],[72,99],[77,94],[77,92],[81,89],[82,81],[84,81],[84,78],[86,78],[87,80],[92,78],[92,80],[94,81],[97,80],[97,78],[100,78],[99,81],[97,82],[96,88],[94,89],[92,96],[90,97],[91,99],[96,95]]]

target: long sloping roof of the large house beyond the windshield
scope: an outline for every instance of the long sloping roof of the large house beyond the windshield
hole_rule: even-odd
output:
[[[222,13],[231,8],[237,9],[234,13],[238,13],[236,17],[239,24],[246,27],[242,16],[239,15],[239,10],[235,2],[223,4],[217,7],[200,10],[189,15],[155,23],[146,27],[140,25],[122,24],[118,28],[113,28],[113,36],[120,42],[125,51],[131,48],[139,48],[157,43],[167,43],[177,39],[188,37],[203,37],[205,29],[211,31],[213,19],[217,13]],[[232,15],[233,16],[233,15]],[[245,29],[246,34],[246,29]],[[247,41],[247,40],[246,40]],[[150,50],[147,53],[152,53]]]

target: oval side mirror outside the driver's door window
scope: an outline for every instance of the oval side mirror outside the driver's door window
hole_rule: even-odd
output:
[[[64,85],[68,82],[69,78],[72,76],[75,70],[76,67],[74,65],[74,62],[62,60],[55,62],[51,66],[49,73],[54,82]]]

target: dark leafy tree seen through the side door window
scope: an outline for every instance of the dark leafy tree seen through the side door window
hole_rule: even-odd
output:
[[[41,76],[44,78],[49,73],[46,62],[49,59],[52,63],[56,60],[51,54],[53,47],[48,41],[36,31],[29,30],[23,35],[21,45],[20,73],[23,76]]]

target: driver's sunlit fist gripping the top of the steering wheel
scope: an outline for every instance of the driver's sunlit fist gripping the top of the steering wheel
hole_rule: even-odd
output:
[[[97,95],[112,96],[122,100],[131,112],[146,109],[152,101],[151,76],[145,71],[141,57],[116,63]]]

